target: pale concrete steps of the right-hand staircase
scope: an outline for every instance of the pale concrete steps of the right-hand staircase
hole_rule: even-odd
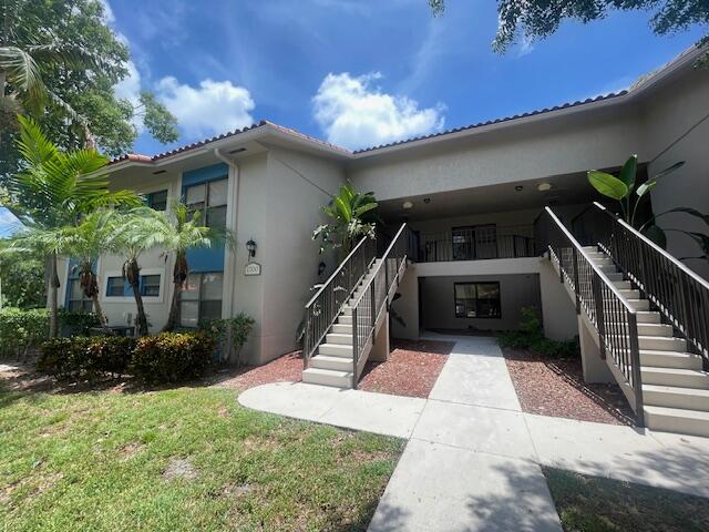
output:
[[[645,423],[649,429],[709,437],[709,374],[687,341],[650,310],[613,259],[595,246],[584,250],[637,310]]]

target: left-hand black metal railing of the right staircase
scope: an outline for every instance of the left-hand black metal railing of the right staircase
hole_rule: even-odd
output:
[[[613,365],[633,390],[637,422],[644,423],[643,379],[637,314],[608,276],[592,260],[549,207],[535,222],[535,241],[557,266],[559,282],[572,288],[576,313],[582,310],[598,332],[602,357]]]

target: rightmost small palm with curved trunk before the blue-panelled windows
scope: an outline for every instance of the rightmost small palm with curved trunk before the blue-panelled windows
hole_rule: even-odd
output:
[[[169,307],[167,323],[163,330],[173,330],[179,324],[179,294],[185,288],[189,267],[187,264],[187,250],[212,247],[219,243],[233,243],[234,235],[228,229],[205,227],[202,224],[199,212],[191,215],[187,205],[174,202],[171,213],[157,212],[154,216],[154,231],[156,238],[161,241],[161,247],[165,253],[175,254],[173,267],[173,299]]]

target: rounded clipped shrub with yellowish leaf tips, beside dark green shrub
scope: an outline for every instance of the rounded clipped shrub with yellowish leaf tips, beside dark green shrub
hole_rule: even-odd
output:
[[[150,382],[177,382],[199,377],[212,360],[214,338],[204,332],[163,332],[138,338],[131,371]]]

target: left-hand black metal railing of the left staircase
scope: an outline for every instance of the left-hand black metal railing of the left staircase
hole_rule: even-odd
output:
[[[363,237],[306,305],[304,369],[377,257],[377,241]]]

